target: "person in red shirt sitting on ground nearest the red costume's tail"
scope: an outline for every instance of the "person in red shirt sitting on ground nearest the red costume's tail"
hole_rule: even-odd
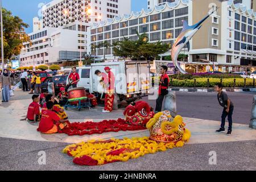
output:
[[[48,101],[46,105],[47,110],[42,113],[42,118],[39,123],[38,131],[43,134],[58,133],[59,130],[62,130],[64,129],[64,127],[68,126],[68,121],[60,119],[60,117],[54,111],[52,111],[52,101]]]

